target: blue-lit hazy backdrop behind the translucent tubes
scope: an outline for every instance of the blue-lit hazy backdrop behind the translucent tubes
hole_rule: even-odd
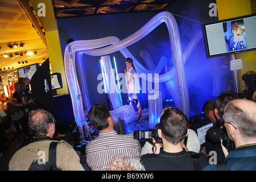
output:
[[[202,23],[209,20],[209,8],[207,7],[211,1],[189,1],[184,6],[179,7],[182,1],[174,3],[170,7],[169,12],[179,14],[174,15],[179,27],[179,35],[181,38],[182,51],[185,50],[187,44],[195,34],[203,34]],[[201,3],[202,2],[202,3]],[[176,7],[179,7],[175,9]],[[181,11],[179,11],[181,10]],[[203,10],[203,11],[202,11]],[[58,24],[69,34],[74,40],[90,40],[99,39],[106,36],[117,36],[119,39],[125,39],[135,31],[139,30],[145,23],[147,23],[157,13],[141,13],[141,14],[119,14],[119,15],[103,15],[103,16],[89,16],[80,18],[66,18],[59,19]],[[190,17],[190,18],[188,18]],[[140,19],[136,20],[135,19]],[[194,20],[192,20],[194,19]],[[214,19],[216,20],[216,19]],[[84,22],[83,24],[78,22]],[[97,22],[97,23],[95,23]],[[200,23],[202,22],[202,23]],[[60,32],[61,34],[61,32]],[[64,53],[66,43],[65,38],[60,36],[62,52]],[[193,52],[190,54],[189,59],[185,64],[187,85],[189,88],[190,98],[190,116],[193,114],[201,113],[203,104],[207,100],[218,96],[220,92],[232,88],[232,86],[225,86],[225,77],[230,77],[229,62],[230,57],[206,57],[205,42],[202,38]],[[170,45],[169,34],[165,24],[161,24],[153,32],[145,38],[128,47],[129,51],[139,60],[139,62],[146,67],[146,64],[140,56],[141,51],[145,50],[150,53],[154,60],[155,65],[158,65],[162,56],[167,58],[166,67],[160,74],[169,71],[174,67],[173,53]],[[123,73],[125,69],[125,57],[120,52],[115,52],[110,55],[111,63],[114,68],[113,55],[117,60],[117,68],[119,73]],[[98,102],[103,102],[106,98],[105,94],[98,94],[97,85],[101,81],[97,81],[97,76],[101,73],[101,66],[99,65],[100,57],[83,55],[84,66],[86,72],[87,87],[90,96],[91,105]],[[225,67],[224,67],[225,66]],[[217,78],[217,79],[216,79]],[[217,81],[216,81],[217,80]],[[216,92],[214,86],[221,87]],[[175,106],[172,97],[166,87],[163,88],[163,107]],[[127,94],[121,94],[123,104],[127,104]],[[142,109],[148,107],[147,94],[138,94],[141,101]]]

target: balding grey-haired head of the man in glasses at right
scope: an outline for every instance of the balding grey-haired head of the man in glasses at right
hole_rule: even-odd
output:
[[[239,99],[230,101],[224,110],[225,121],[234,123],[244,140],[256,138],[256,103]]]

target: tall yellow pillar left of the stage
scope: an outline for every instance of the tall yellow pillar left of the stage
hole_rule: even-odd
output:
[[[51,0],[30,0],[30,3],[33,6],[35,13],[37,13],[38,10],[41,8],[37,7],[38,3],[45,4],[46,14],[45,16],[41,16],[38,18],[39,21],[42,23],[43,29],[45,30],[47,49],[49,52],[49,60],[51,64],[51,71],[53,73],[61,73],[63,88],[57,89],[57,93],[68,94],[69,91],[67,89],[67,81],[61,52],[61,43],[59,42],[59,32],[55,20],[53,4],[51,3]]]

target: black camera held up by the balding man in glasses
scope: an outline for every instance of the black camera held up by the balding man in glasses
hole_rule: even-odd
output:
[[[226,131],[218,126],[211,127],[206,133],[206,138],[214,143],[221,143],[221,140],[223,140],[222,144],[227,150],[231,151],[235,149],[235,143],[227,137]]]

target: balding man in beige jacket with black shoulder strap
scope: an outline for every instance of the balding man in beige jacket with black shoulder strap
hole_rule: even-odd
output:
[[[55,119],[48,111],[40,109],[31,113],[29,128],[33,134],[32,142],[15,152],[9,162],[9,171],[27,171],[30,167],[34,167],[35,171],[49,171],[52,165],[50,159],[54,157],[49,156],[49,147],[52,142],[58,143],[55,151],[55,163],[58,169],[85,170],[73,146],[64,140],[53,140]]]

